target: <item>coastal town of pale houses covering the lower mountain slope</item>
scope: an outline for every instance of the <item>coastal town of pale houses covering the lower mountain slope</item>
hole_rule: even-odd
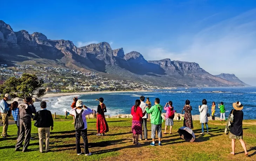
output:
[[[149,90],[160,87],[129,80],[114,80],[96,72],[81,72],[67,68],[50,66],[19,65],[7,67],[0,64],[0,84],[10,77],[19,78],[23,73],[31,73],[42,79],[46,92],[87,92],[117,90]]]

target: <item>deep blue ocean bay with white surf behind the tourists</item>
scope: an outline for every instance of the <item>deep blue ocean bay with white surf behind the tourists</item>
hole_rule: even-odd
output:
[[[224,102],[226,109],[226,117],[233,109],[232,104],[240,101],[244,105],[244,119],[256,119],[256,87],[207,87],[207,88],[181,88],[170,90],[153,90],[152,92],[123,92],[123,93],[97,93],[97,94],[82,94],[62,97],[46,98],[47,109],[52,113],[56,112],[59,115],[65,115],[65,111],[71,109],[70,105],[73,102],[73,97],[78,96],[83,100],[84,104],[90,109],[96,109],[99,104],[98,99],[104,98],[104,103],[107,106],[106,114],[114,116],[117,114],[129,114],[135,100],[140,96],[149,97],[152,104],[155,98],[160,98],[160,104],[164,106],[170,100],[173,102],[174,110],[181,113],[185,101],[190,100],[190,105],[193,107],[191,113],[193,115],[200,114],[198,105],[202,104],[202,100],[207,100],[209,112],[211,103],[214,101],[216,105]],[[34,103],[36,109],[40,109],[40,103]],[[165,111],[163,111],[165,112]],[[211,113],[211,112],[210,112]],[[216,109],[216,117],[220,117],[219,109]]]

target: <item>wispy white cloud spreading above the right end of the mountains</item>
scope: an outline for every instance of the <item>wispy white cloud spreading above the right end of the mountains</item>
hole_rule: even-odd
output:
[[[212,74],[235,73],[256,77],[256,9],[249,10],[190,37],[190,45],[178,52],[155,47],[147,51],[150,59],[171,58],[197,62]],[[184,36],[186,37],[186,36]]]

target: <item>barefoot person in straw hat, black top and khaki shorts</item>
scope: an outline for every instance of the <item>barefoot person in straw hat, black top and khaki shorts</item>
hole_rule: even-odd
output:
[[[243,105],[241,102],[237,101],[236,103],[233,103],[234,110],[230,111],[230,114],[233,114],[234,120],[233,123],[231,123],[230,126],[230,133],[229,138],[231,141],[232,146],[232,152],[230,154],[235,155],[235,141],[236,139],[239,139],[243,149],[244,149],[244,155],[248,156],[245,143],[243,141]]]

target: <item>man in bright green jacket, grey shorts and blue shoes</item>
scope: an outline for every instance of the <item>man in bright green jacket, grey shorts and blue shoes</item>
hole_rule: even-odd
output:
[[[150,109],[147,107],[146,112],[151,114],[151,138],[152,138],[152,143],[150,144],[151,146],[155,146],[155,136],[156,136],[156,131],[158,135],[158,140],[159,140],[159,146],[162,146],[161,144],[161,138],[162,138],[162,122],[163,118],[161,116],[163,110],[163,106],[160,105],[160,99],[156,98],[155,99],[155,105],[152,106]]]

